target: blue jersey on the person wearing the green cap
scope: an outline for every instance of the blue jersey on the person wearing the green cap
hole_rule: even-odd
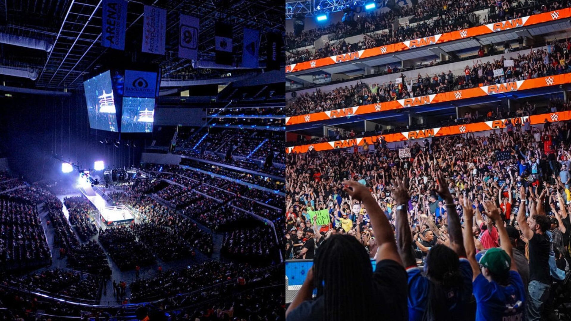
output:
[[[474,280],[474,296],[476,321],[524,320],[525,287],[516,271],[509,271],[509,285],[505,287],[478,275]]]

